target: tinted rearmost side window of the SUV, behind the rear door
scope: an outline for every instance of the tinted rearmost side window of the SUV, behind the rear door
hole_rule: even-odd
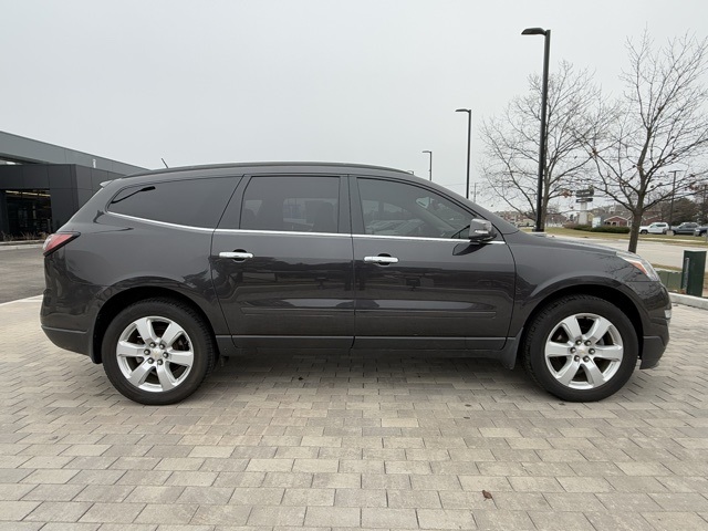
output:
[[[215,228],[238,179],[189,179],[132,186],[108,204],[108,211],[135,218]]]

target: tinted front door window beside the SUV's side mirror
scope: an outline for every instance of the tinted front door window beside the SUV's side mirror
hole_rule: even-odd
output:
[[[367,235],[466,238],[471,215],[442,196],[405,183],[358,179]]]

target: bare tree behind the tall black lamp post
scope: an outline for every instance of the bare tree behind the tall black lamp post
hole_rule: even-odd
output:
[[[486,119],[481,127],[485,145],[482,175],[488,192],[519,214],[535,218],[539,127],[542,80],[529,76],[529,92],[514,97],[502,116]],[[579,188],[592,165],[585,143],[605,123],[602,94],[592,74],[576,72],[561,62],[549,77],[548,146],[541,200],[541,226],[545,226],[549,202]]]

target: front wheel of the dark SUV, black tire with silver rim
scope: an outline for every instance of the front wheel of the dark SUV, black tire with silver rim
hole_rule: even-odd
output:
[[[562,324],[564,320],[577,324],[575,330],[581,335],[572,336]],[[606,322],[611,326],[601,337],[585,335],[594,323]],[[610,360],[620,350],[621,360]],[[638,354],[629,319],[616,305],[591,295],[569,295],[548,304],[529,323],[522,345],[527,372],[541,387],[566,402],[596,402],[613,395],[632,376]],[[568,383],[563,382],[565,373],[571,375]],[[593,382],[593,374],[606,377],[606,382],[600,377],[604,383]]]

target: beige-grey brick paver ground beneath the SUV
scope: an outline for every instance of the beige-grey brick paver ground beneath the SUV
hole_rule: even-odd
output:
[[[231,360],[146,407],[0,305],[0,529],[708,529],[708,314],[569,404],[487,361]],[[487,499],[482,490],[491,497]]]

